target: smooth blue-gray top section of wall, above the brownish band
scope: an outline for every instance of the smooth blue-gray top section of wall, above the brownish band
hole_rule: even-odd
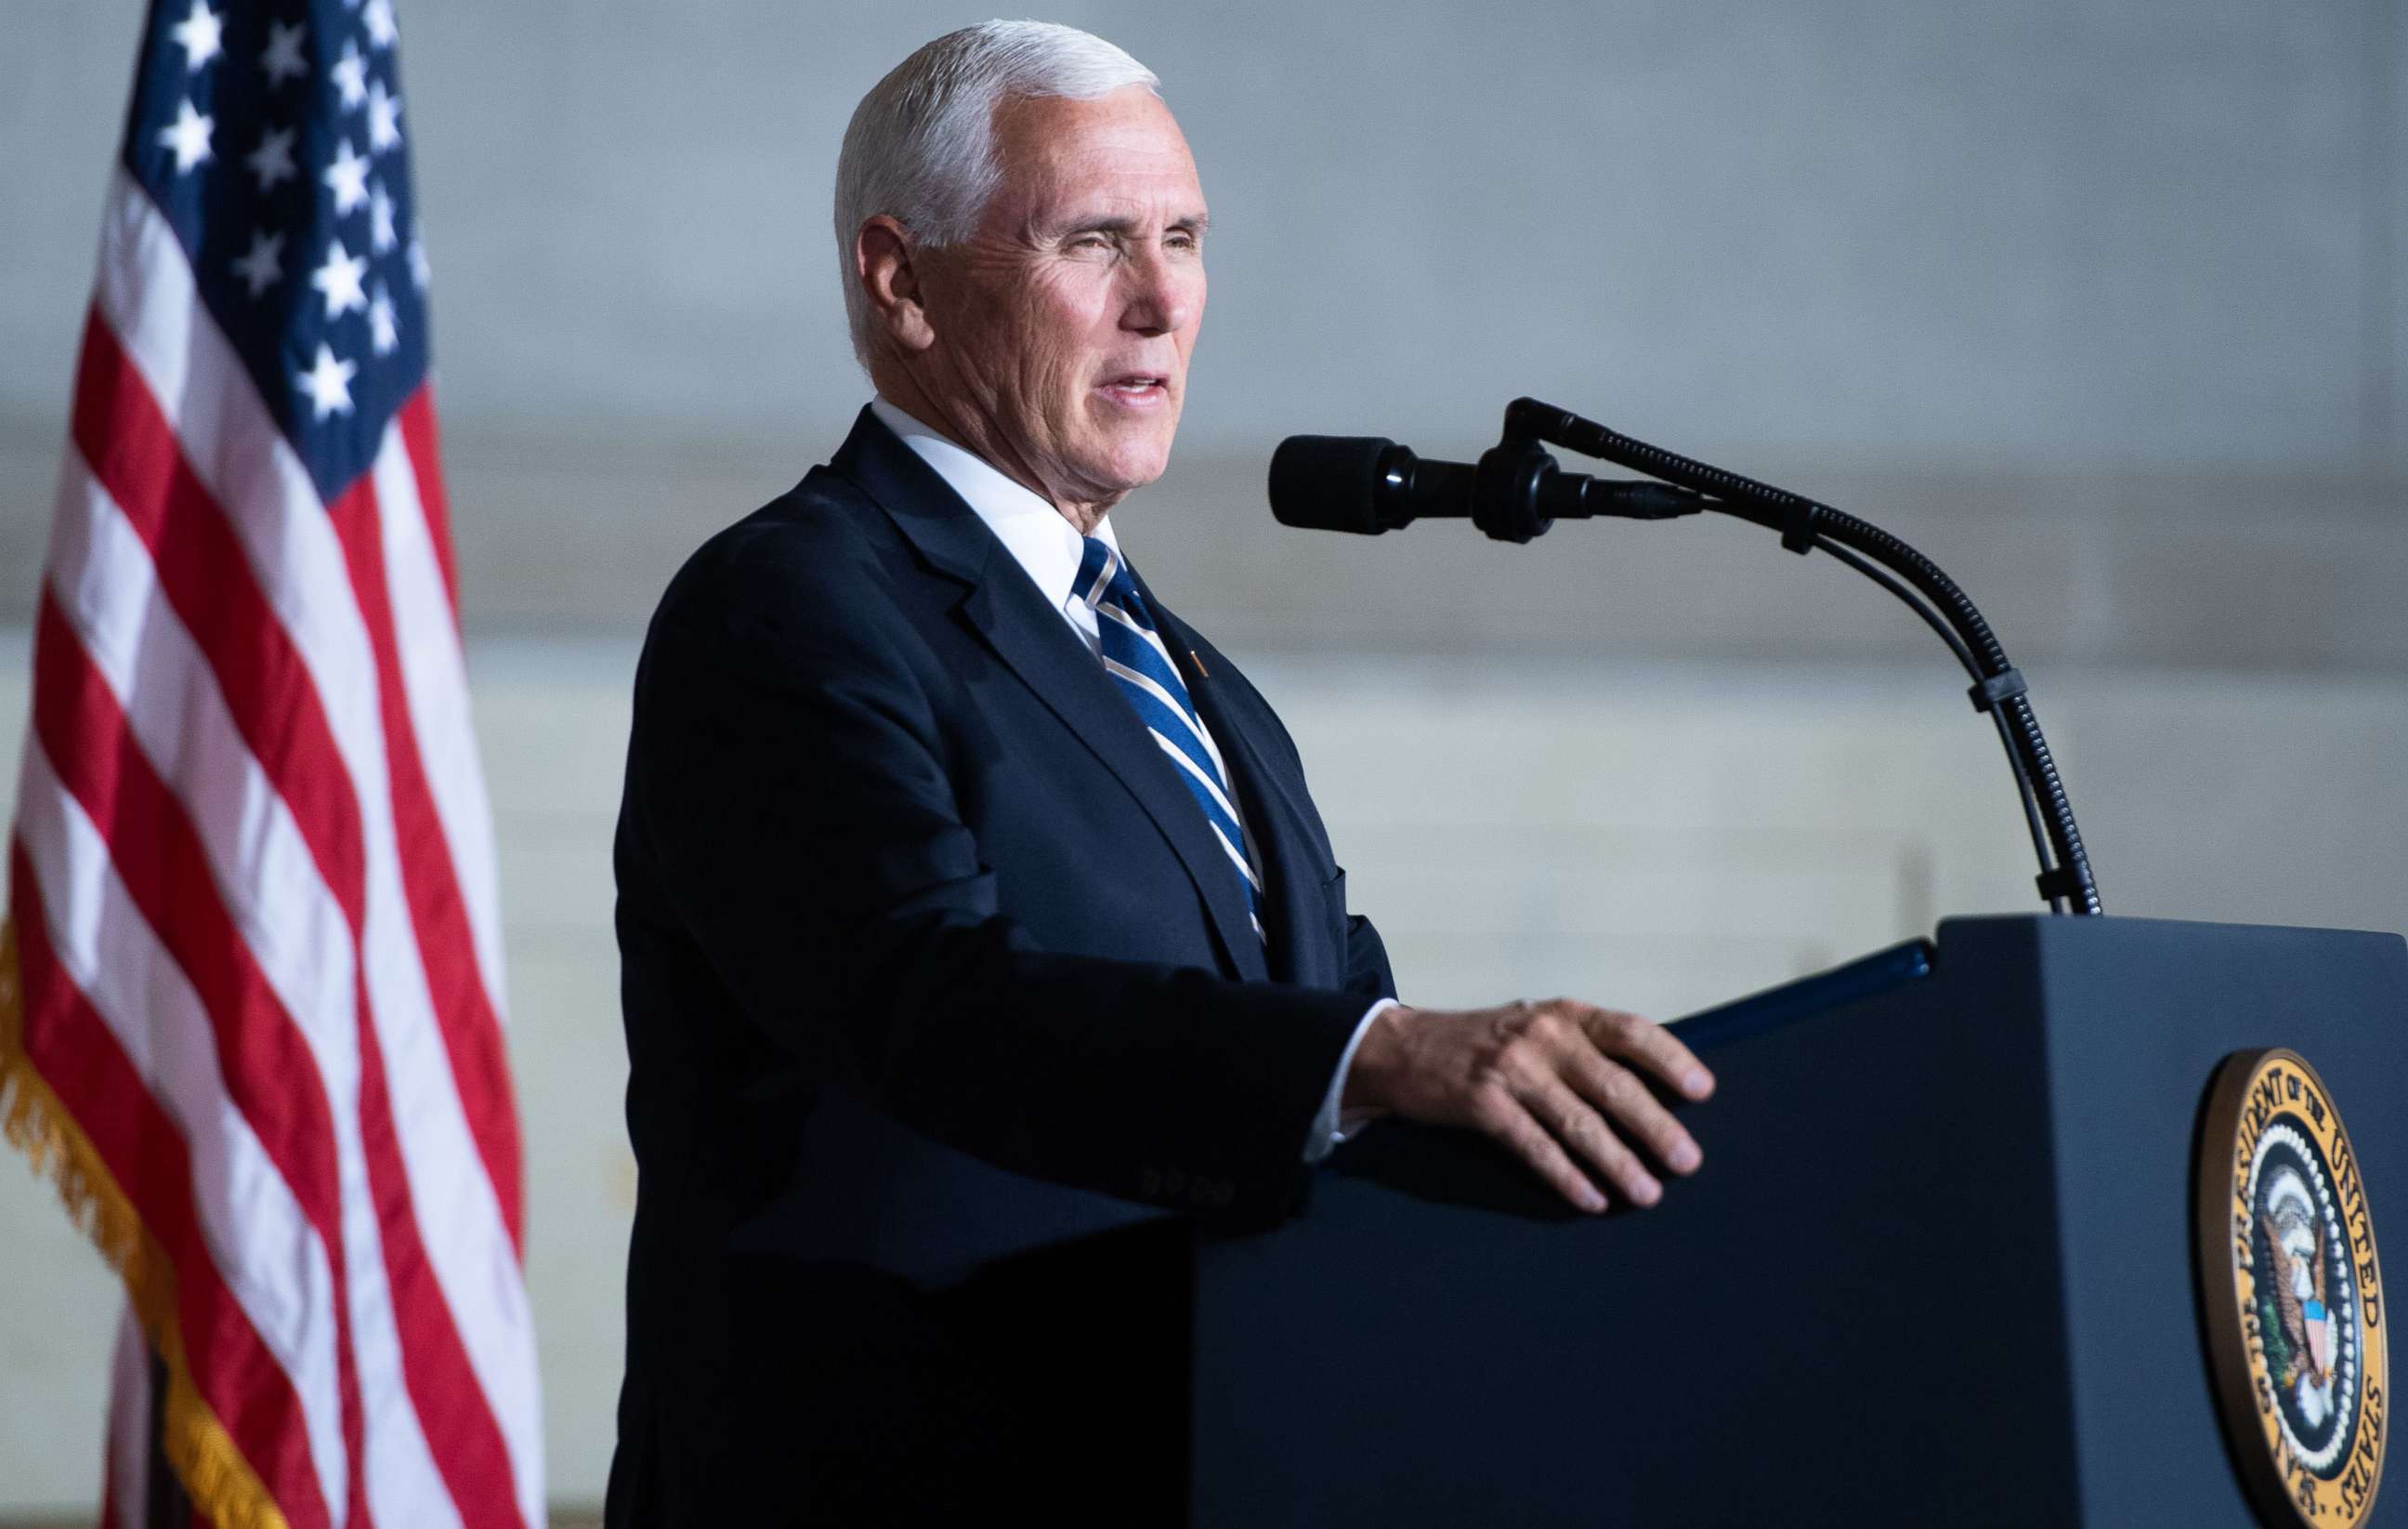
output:
[[[12,0],[0,409],[72,359],[135,7]],[[405,5],[462,424],[852,412],[826,226],[862,87],[978,12]],[[1515,392],[1736,457],[2391,470],[2389,0],[1072,5],[1214,202],[1187,443],[1469,448]]]

